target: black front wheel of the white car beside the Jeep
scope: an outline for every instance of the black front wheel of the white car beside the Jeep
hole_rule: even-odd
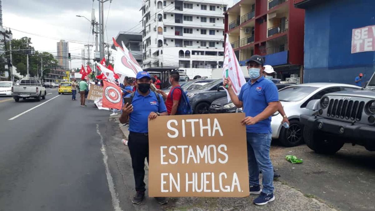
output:
[[[298,120],[289,123],[289,128],[282,127],[279,141],[285,147],[296,147],[303,143],[303,126]]]

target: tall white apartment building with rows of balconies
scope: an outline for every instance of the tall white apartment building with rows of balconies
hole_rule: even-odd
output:
[[[145,0],[143,68],[176,66],[210,76],[224,60],[224,16],[229,0]]]

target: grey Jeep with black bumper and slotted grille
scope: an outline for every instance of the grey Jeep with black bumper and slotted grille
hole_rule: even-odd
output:
[[[334,154],[345,143],[375,151],[375,93],[348,90],[325,94],[308,106],[313,115],[302,114],[306,145],[317,153]]]

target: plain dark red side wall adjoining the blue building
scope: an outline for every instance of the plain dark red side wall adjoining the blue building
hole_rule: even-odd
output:
[[[289,63],[303,64],[303,45],[305,37],[305,10],[297,9],[290,1],[289,12],[289,30],[288,30],[288,49]]]

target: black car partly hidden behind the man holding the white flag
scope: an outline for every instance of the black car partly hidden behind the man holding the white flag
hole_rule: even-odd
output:
[[[245,78],[246,81],[248,81],[250,78]],[[291,86],[293,84],[275,84],[278,90]],[[221,114],[221,113],[235,113],[237,110],[236,106],[232,103],[232,101],[229,101],[228,98],[222,97],[217,100],[214,100],[211,103],[209,113],[210,114]]]

